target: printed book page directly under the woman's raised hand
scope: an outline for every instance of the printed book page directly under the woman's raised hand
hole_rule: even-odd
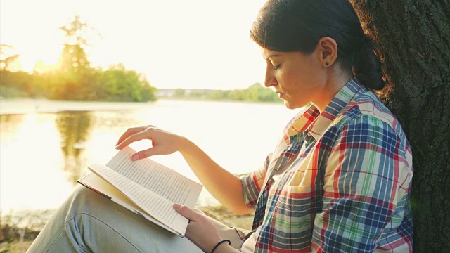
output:
[[[153,160],[133,162],[134,153],[132,148],[124,148],[106,166],[172,203],[195,206],[203,186]]]

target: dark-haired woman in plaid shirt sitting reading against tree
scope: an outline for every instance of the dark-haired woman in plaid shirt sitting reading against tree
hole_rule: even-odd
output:
[[[180,152],[223,205],[255,209],[252,233],[174,204],[190,220],[188,240],[176,238],[80,188],[30,252],[412,252],[411,148],[372,92],[385,86],[380,58],[352,5],[269,0],[250,36],[266,60],[265,86],[287,108],[304,108],[264,167],[239,179],[154,126],[127,130],[117,149],[150,139],[133,160]]]

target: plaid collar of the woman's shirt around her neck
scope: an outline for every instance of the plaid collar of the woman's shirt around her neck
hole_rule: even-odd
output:
[[[285,142],[291,143],[292,138],[297,134],[301,134],[304,138],[312,136],[319,140],[323,133],[328,129],[331,122],[339,115],[342,108],[347,105],[357,93],[364,93],[366,89],[359,84],[355,78],[350,79],[345,86],[343,86],[335,97],[330,101],[323,112],[314,105],[309,105],[298,113],[285,127],[283,136]]]

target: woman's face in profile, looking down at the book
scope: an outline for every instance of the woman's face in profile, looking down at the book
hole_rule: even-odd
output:
[[[266,60],[264,85],[273,87],[290,109],[319,102],[325,91],[326,77],[316,53],[276,52],[262,48]]]

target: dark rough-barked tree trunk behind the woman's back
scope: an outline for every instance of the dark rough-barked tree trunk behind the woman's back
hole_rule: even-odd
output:
[[[413,150],[414,252],[450,249],[450,1],[352,0],[385,56]]]

